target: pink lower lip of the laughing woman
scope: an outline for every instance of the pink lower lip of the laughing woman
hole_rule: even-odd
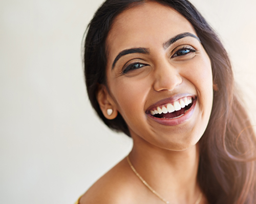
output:
[[[190,109],[188,109],[186,111],[186,113],[184,113],[184,115],[182,115],[178,118],[172,118],[172,119],[156,118],[156,117],[153,117],[151,114],[147,114],[147,116],[163,125],[169,125],[169,126],[178,125],[183,122],[186,122],[187,120],[189,120],[191,118],[191,116],[193,115],[193,113],[195,111],[196,103],[197,103],[197,100],[194,100],[193,105],[190,107]]]

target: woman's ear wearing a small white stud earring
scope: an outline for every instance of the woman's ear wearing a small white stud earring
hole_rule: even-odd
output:
[[[109,120],[115,119],[118,111],[108,90],[102,84],[98,85],[97,100],[105,118]]]

